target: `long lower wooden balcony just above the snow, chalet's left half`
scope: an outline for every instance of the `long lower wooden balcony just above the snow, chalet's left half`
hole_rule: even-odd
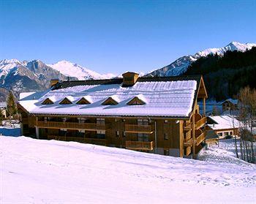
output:
[[[98,146],[106,146],[105,139],[89,138],[89,137],[68,137],[59,135],[48,135],[48,140],[73,141],[78,143],[89,143]]]

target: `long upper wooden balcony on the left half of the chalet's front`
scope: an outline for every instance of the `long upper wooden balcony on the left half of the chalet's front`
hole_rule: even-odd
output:
[[[84,129],[88,131],[106,130],[109,124],[69,123],[53,121],[36,121],[36,126],[50,129]]]

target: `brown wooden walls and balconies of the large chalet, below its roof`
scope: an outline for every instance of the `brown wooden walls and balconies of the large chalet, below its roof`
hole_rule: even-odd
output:
[[[203,78],[198,87],[192,112],[184,118],[29,114],[18,105],[23,135],[195,158],[206,138],[206,116],[197,105],[207,97]]]

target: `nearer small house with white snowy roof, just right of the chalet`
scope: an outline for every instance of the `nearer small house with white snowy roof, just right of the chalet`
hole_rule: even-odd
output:
[[[219,139],[223,139],[228,135],[238,135],[239,121],[231,116],[208,116],[206,129],[211,135],[214,132]]]

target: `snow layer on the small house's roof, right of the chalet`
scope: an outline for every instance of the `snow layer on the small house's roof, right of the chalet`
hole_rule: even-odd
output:
[[[232,129],[239,128],[239,121],[231,116],[208,116],[215,124],[208,124],[211,129]]]

